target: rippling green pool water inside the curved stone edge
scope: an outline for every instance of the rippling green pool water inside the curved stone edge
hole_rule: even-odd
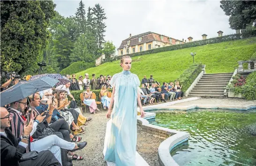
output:
[[[256,123],[256,109],[155,113],[152,124],[190,134],[187,143],[171,151],[180,166],[256,166],[256,136],[246,129]]]

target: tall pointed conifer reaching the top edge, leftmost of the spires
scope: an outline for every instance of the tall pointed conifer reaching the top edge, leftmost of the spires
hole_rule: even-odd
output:
[[[79,7],[77,8],[77,11],[75,13],[76,23],[79,27],[79,33],[84,34],[86,31],[86,15],[85,15],[85,9],[83,1],[81,0],[79,2]]]

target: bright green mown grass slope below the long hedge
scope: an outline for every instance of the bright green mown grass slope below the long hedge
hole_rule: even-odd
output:
[[[195,62],[202,62],[206,65],[206,73],[233,72],[238,67],[237,61],[248,60],[255,51],[256,37],[251,37],[232,42],[141,55],[132,58],[131,72],[140,79],[144,75],[149,78],[152,74],[159,82],[173,81],[193,63],[190,52],[196,52]],[[90,78],[93,73],[97,77],[100,74],[113,76],[121,71],[120,61],[113,61],[81,71],[76,76],[84,76],[84,73],[89,73]]]

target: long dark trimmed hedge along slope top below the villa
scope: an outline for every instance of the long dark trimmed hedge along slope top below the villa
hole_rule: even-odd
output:
[[[233,40],[248,38],[248,37],[252,37],[252,36],[256,36],[256,30],[243,32],[242,34],[225,35],[222,37],[215,37],[215,38],[210,38],[210,39],[205,39],[205,40],[200,40],[200,41],[195,41],[195,42],[187,42],[184,44],[177,44],[177,45],[172,45],[172,46],[167,46],[167,47],[162,47],[162,48],[155,48],[155,49],[151,49],[151,50],[147,50],[147,51],[129,54],[129,56],[133,57],[133,56],[139,56],[139,55],[155,54],[158,52],[172,51],[172,50],[182,49],[182,48],[203,46],[206,44],[214,44],[214,43],[219,43],[219,42],[233,41]],[[113,61],[119,60],[120,58],[121,58],[121,56],[115,56],[114,58],[106,58],[106,59],[103,59],[102,63],[113,62]]]

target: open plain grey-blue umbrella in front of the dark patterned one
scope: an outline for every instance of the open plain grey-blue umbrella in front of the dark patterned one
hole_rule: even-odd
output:
[[[59,80],[43,76],[34,80],[22,81],[0,93],[0,106],[21,100],[36,92],[52,88]]]

